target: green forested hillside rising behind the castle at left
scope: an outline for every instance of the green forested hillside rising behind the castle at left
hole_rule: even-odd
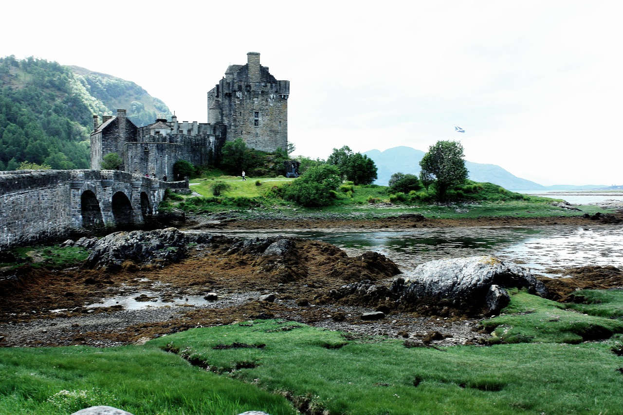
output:
[[[88,168],[93,114],[128,110],[136,125],[169,115],[134,82],[44,59],[0,58],[0,171],[23,161],[54,169]]]

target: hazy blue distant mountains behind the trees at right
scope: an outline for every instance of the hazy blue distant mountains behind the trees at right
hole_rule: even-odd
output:
[[[387,186],[391,175],[398,171],[419,174],[419,163],[426,153],[411,147],[399,146],[385,151],[370,150],[363,154],[374,160],[378,169],[378,179],[374,183]],[[469,171],[470,180],[495,183],[510,191],[594,190],[606,187],[597,185],[573,186],[571,184],[543,186],[530,180],[518,178],[497,165],[472,163],[466,160],[465,167]]]

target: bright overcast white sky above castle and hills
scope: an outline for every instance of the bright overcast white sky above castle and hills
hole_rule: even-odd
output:
[[[130,80],[179,120],[259,52],[290,80],[288,141],[326,159],[456,140],[549,184],[623,184],[617,1],[12,1],[0,56]],[[464,128],[456,133],[454,126]]]

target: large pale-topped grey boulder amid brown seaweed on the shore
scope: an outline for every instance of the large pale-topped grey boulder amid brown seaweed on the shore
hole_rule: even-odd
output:
[[[412,277],[396,279],[392,292],[403,310],[436,315],[484,316],[508,305],[506,288],[545,296],[530,270],[489,257],[442,259],[418,265]]]

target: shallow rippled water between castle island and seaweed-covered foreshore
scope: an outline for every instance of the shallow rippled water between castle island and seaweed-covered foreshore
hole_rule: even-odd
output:
[[[231,236],[298,236],[329,242],[349,255],[374,250],[408,272],[435,259],[493,255],[535,274],[583,265],[623,267],[623,227],[451,227],[408,230],[225,231]],[[556,274],[547,274],[556,275]]]

